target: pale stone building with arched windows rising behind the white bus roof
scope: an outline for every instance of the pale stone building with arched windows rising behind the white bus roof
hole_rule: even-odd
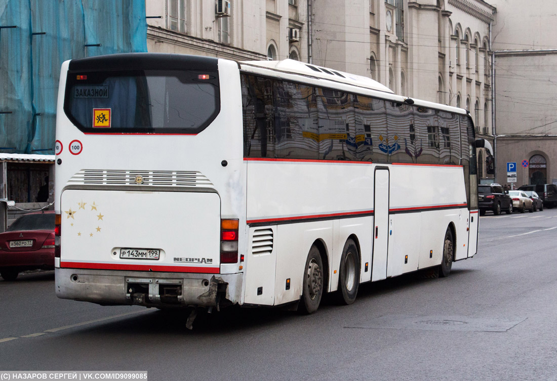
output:
[[[148,50],[296,60],[367,76],[408,97],[466,108],[493,144],[490,31],[483,0],[146,0]],[[478,152],[480,178],[492,158]],[[491,173],[488,173],[491,172]]]

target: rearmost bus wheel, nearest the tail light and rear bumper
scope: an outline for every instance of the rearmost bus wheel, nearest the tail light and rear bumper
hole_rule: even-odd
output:
[[[304,281],[302,282],[302,298],[298,311],[304,314],[312,314],[317,311],[323,296],[323,261],[317,246],[311,246],[307,254],[306,266],[304,268]]]

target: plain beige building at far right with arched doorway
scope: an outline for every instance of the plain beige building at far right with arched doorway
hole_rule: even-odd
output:
[[[557,184],[557,3],[497,4],[497,181],[506,184],[506,163],[516,162],[515,185]]]

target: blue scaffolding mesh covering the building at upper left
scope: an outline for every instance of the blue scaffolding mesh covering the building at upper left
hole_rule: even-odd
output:
[[[146,52],[145,2],[0,0],[0,152],[54,153],[60,66]]]

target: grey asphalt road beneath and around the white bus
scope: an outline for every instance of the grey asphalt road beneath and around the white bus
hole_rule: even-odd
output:
[[[0,370],[149,380],[557,380],[557,209],[480,217],[451,276],[362,285],[315,315],[201,315],[60,300],[53,272],[0,281]]]

